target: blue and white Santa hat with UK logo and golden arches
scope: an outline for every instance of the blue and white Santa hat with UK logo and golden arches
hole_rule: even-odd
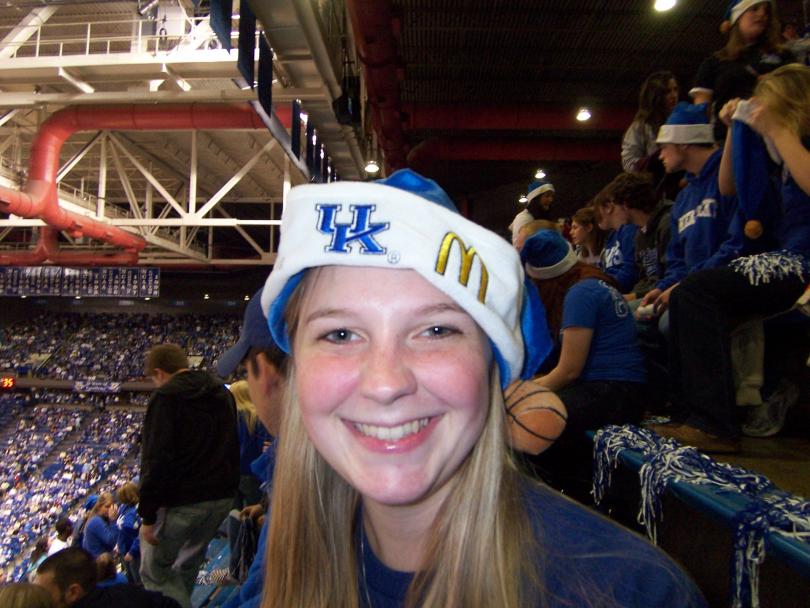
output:
[[[270,332],[286,352],[289,297],[306,270],[321,266],[417,272],[487,334],[504,387],[531,377],[551,350],[543,305],[515,249],[459,215],[436,182],[408,169],[375,183],[290,190],[276,263],[261,296]]]

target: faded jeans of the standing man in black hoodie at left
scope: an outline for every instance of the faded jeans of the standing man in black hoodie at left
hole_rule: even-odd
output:
[[[158,509],[155,535],[160,542],[150,545],[141,539],[143,586],[191,608],[205,550],[232,506],[233,498],[220,498]]]

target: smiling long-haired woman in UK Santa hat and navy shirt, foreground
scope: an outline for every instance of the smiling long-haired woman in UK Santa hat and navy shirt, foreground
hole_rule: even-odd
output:
[[[508,242],[409,170],[297,186],[283,224],[261,298],[291,355],[263,608],[705,605],[511,463],[503,391],[550,338]]]

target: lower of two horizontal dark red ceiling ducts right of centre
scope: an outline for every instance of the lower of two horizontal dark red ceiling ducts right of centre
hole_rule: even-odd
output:
[[[430,139],[408,154],[408,166],[428,172],[439,161],[536,160],[617,161],[616,143],[607,140],[515,140],[505,138]]]

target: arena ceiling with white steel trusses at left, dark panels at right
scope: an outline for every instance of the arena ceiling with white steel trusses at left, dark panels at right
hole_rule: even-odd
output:
[[[681,0],[667,13],[654,12],[653,0],[250,4],[275,52],[275,103],[302,100],[342,177],[361,177],[376,144],[389,167],[409,163],[436,178],[473,219],[500,231],[538,167],[568,211],[609,180],[641,82],[670,69],[683,95],[722,44],[725,8],[718,0]],[[0,2],[0,182],[25,187],[40,125],[69,106],[255,100],[240,87],[235,56],[215,41],[207,6]],[[780,8],[802,19],[800,2]],[[234,38],[238,11],[235,1]],[[331,109],[342,93],[342,40],[350,59],[357,48],[364,60],[352,64],[363,79],[359,128],[339,124]],[[583,106],[588,123],[574,118]],[[59,169],[60,205],[139,234],[140,262],[164,266],[272,263],[285,183],[309,179],[266,129],[80,131]],[[40,224],[0,212],[0,256],[29,247]],[[98,245],[70,233],[60,243]]]

